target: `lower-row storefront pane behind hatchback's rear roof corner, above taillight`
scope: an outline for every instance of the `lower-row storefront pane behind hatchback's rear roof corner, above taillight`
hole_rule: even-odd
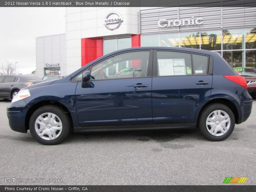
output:
[[[232,68],[244,66],[244,51],[223,51],[223,58]]]

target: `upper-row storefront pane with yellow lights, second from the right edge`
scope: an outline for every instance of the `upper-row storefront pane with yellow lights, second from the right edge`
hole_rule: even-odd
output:
[[[223,50],[244,48],[244,29],[222,30]]]

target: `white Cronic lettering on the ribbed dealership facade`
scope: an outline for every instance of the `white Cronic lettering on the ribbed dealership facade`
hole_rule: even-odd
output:
[[[183,20],[166,20],[166,19],[160,19],[157,22],[158,27],[164,28],[164,27],[179,27],[184,25],[201,25],[203,24],[202,18],[194,18],[191,17],[191,19],[183,19]]]

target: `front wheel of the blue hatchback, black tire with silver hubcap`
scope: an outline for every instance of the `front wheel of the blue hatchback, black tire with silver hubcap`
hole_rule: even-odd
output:
[[[36,109],[32,114],[29,120],[29,130],[39,143],[56,145],[68,137],[71,129],[70,121],[68,114],[64,113],[62,108],[46,105]]]

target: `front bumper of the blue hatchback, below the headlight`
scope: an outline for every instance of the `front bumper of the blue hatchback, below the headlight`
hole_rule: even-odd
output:
[[[11,103],[7,107],[9,125],[13,131],[26,133],[25,117],[28,112],[28,105],[24,100]]]

